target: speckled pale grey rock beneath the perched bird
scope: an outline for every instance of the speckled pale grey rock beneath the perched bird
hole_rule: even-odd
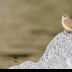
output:
[[[72,34],[56,35],[37,63],[26,61],[9,69],[72,69]]]

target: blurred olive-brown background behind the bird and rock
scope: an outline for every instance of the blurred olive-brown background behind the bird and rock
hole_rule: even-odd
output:
[[[0,69],[37,62],[71,11],[72,0],[0,0]]]

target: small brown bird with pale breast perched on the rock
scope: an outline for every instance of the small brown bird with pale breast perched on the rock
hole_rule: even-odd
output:
[[[62,16],[62,26],[67,33],[72,33],[72,20],[68,14],[59,14]]]

